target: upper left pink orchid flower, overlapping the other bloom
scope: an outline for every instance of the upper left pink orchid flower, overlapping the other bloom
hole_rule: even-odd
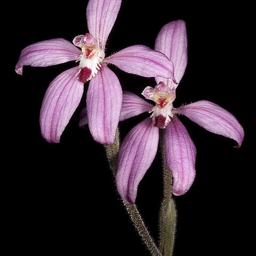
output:
[[[59,142],[61,134],[81,101],[84,86],[89,129],[95,141],[113,144],[122,108],[122,89],[108,63],[145,77],[162,76],[174,80],[173,63],[161,52],[143,45],[127,47],[105,58],[105,45],[115,23],[121,0],[90,0],[86,18],[89,33],[76,36],[73,44],[55,38],[27,46],[21,51],[15,71],[22,75],[25,65],[46,67],[67,61],[79,62],[57,76],[49,85],[41,107],[43,138]],[[78,49],[77,47],[80,49]]]

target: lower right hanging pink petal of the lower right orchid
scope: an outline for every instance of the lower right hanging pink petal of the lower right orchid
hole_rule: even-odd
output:
[[[175,116],[165,128],[164,140],[166,164],[173,177],[172,193],[180,196],[189,190],[195,179],[196,147]]]

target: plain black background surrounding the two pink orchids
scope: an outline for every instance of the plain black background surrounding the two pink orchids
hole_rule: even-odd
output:
[[[149,255],[119,199],[102,145],[88,129],[78,127],[85,95],[58,144],[43,140],[39,111],[47,86],[74,62],[52,67],[25,67],[14,73],[20,51],[29,44],[62,37],[69,41],[87,33],[87,1],[16,3],[7,36],[12,83],[9,100],[11,131],[5,152],[4,180],[9,252],[27,255]],[[174,255],[246,255],[251,246],[253,167],[249,165],[249,106],[253,82],[252,25],[246,3],[123,1],[110,33],[106,55],[143,44],[154,49],[166,23],[187,24],[188,65],[177,89],[174,107],[210,100],[232,113],[243,125],[245,139],[236,142],[207,132],[180,117],[197,148],[196,178],[186,195],[175,197],[178,211]],[[140,95],[154,78],[126,74],[110,66],[123,90]],[[255,72],[255,71],[254,71]],[[114,92],[113,92],[114,93]],[[121,139],[147,114],[120,123]],[[5,137],[5,134],[4,136]],[[5,139],[5,138],[4,138]],[[162,196],[159,154],[140,183],[137,204],[157,240]]]

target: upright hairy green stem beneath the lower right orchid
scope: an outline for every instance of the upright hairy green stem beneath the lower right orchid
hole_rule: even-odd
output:
[[[171,256],[175,239],[176,212],[172,198],[172,174],[166,165],[165,142],[162,130],[159,142],[163,165],[163,201],[159,213],[159,249],[163,256]]]

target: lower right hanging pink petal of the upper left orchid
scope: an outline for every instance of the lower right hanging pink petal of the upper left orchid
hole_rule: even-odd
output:
[[[122,107],[122,88],[115,73],[103,65],[90,81],[86,95],[89,129],[95,141],[111,145]]]

